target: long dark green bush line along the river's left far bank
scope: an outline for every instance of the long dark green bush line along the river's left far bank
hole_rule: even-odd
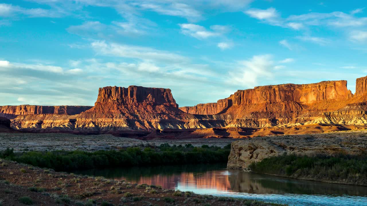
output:
[[[0,151],[0,158],[26,163],[56,171],[74,171],[92,168],[175,165],[227,162],[230,149],[220,147],[169,146],[162,144],[157,149],[138,147],[126,150],[86,151],[25,151],[12,149]]]

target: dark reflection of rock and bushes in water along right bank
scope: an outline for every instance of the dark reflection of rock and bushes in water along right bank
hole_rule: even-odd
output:
[[[228,176],[228,180],[234,192],[246,192],[251,194],[310,194],[310,192],[312,192],[312,194],[319,195],[367,195],[366,188],[360,186],[294,180],[248,173],[241,170],[229,171],[231,175]]]

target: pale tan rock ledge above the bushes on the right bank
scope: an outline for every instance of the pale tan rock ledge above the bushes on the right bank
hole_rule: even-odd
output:
[[[335,133],[314,135],[284,135],[254,137],[234,141],[228,157],[227,168],[247,170],[252,162],[283,154],[350,154],[366,152],[366,132],[349,132],[348,135]]]

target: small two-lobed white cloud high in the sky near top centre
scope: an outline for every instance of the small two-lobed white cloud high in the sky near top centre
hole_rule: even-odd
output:
[[[192,36],[198,39],[204,39],[208,37],[221,36],[228,32],[230,29],[227,26],[213,25],[210,27],[211,30],[207,30],[204,26],[200,26],[192,23],[179,24],[181,32],[185,35]]]

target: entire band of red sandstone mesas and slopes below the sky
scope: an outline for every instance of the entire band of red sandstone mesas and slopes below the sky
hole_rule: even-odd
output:
[[[11,119],[13,129],[74,133],[314,124],[367,126],[366,103],[367,77],[362,77],[356,80],[355,95],[344,80],[282,84],[239,90],[217,103],[180,108],[170,89],[104,87],[99,88],[94,107],[0,106],[0,117]]]

